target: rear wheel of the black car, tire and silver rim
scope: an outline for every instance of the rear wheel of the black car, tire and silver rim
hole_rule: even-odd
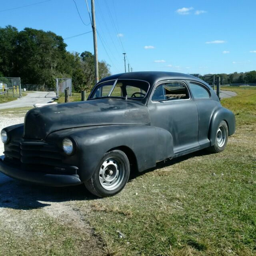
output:
[[[219,153],[222,152],[228,143],[228,125],[225,121],[221,121],[215,134],[214,145],[210,146],[208,150],[210,152]]]

